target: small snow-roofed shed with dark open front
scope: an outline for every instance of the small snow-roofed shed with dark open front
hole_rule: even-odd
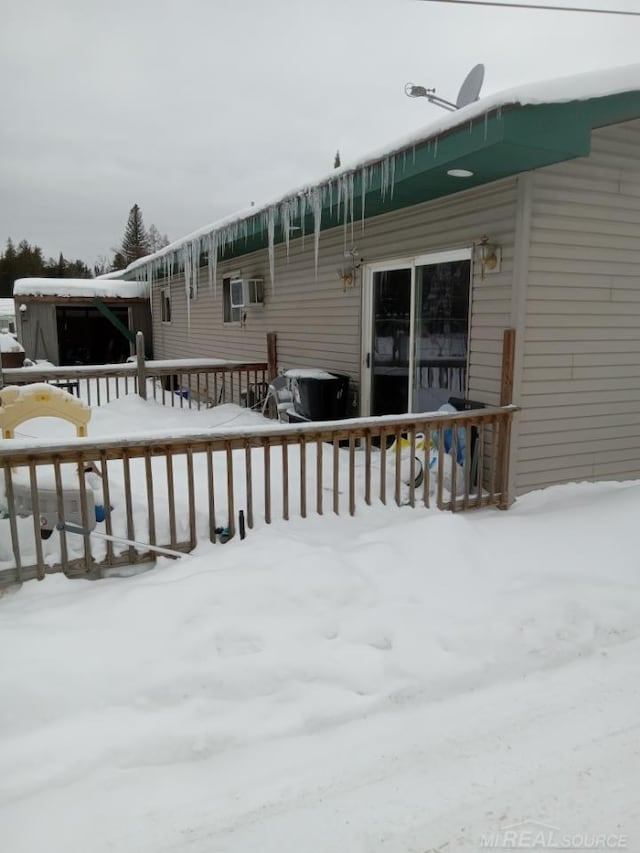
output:
[[[27,356],[56,365],[109,364],[135,352],[145,333],[151,354],[149,295],[138,282],[22,278],[13,289],[18,338]]]

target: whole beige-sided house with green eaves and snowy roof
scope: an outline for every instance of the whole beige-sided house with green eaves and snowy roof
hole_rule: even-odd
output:
[[[498,404],[513,329],[511,494],[640,477],[640,65],[485,98],[125,278],[156,357],[265,359],[275,332],[281,369],[350,376],[353,415]]]

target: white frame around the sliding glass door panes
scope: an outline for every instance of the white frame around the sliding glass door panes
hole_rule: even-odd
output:
[[[431,266],[432,264],[444,264],[452,261],[470,261],[469,280],[469,331],[471,337],[471,306],[473,304],[473,247],[465,246],[458,249],[448,249],[442,252],[429,252],[422,255],[411,255],[402,258],[390,258],[386,261],[376,261],[365,264],[362,276],[362,332],[360,336],[360,415],[367,417],[371,414],[371,387],[372,387],[372,343],[373,343],[373,277],[377,272],[409,269],[411,270],[411,308],[409,315],[409,406],[413,400],[413,375],[415,362],[415,311],[416,311],[416,267]],[[469,376],[469,354],[471,347],[467,347],[467,377]],[[411,409],[410,409],[411,411]]]

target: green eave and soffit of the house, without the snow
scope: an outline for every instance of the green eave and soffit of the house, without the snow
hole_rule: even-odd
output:
[[[350,225],[353,219],[354,225],[359,224],[363,219],[443,198],[521,172],[584,157],[590,152],[593,128],[639,117],[638,91],[589,100],[525,106],[513,104],[493,109],[429,140],[405,145],[370,165],[357,168],[350,178],[353,181],[353,209],[348,211],[348,223]],[[389,168],[392,175],[389,175]],[[467,178],[452,177],[447,174],[451,169],[466,169],[473,174]],[[363,180],[367,181],[364,216]],[[329,176],[317,185],[324,188],[321,231],[339,227],[345,221],[345,200],[342,199],[338,205],[337,190],[330,181]],[[291,198],[298,195],[292,193]],[[291,239],[297,240],[304,233],[312,242],[314,219],[307,201],[303,221],[299,216],[291,219],[291,224],[301,229],[293,232]],[[250,215],[243,228],[242,236],[227,242],[218,252],[219,261],[269,247],[264,210]],[[201,266],[207,263],[204,239]],[[276,217],[273,244],[284,242],[284,223]],[[180,250],[175,252],[172,266],[174,272],[182,268]],[[142,269],[144,267],[133,269],[126,277],[135,278]],[[159,277],[162,277],[160,264],[157,269]]]

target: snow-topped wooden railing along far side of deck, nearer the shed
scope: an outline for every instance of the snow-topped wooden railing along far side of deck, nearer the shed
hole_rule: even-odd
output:
[[[46,382],[90,406],[139,394],[166,406],[210,408],[222,403],[258,405],[267,391],[266,362],[177,359],[78,367],[21,367],[2,370],[2,385]]]

